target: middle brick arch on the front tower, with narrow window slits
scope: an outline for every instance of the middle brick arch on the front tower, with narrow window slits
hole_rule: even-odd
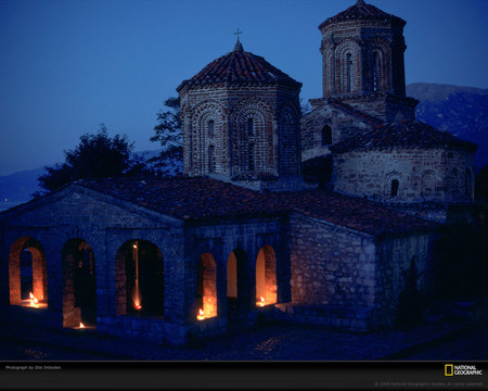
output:
[[[274,173],[272,110],[261,98],[247,97],[239,101],[231,114],[232,175],[253,171]],[[253,119],[249,135],[248,119]],[[249,146],[253,146],[251,154]],[[253,162],[249,162],[249,159]]]

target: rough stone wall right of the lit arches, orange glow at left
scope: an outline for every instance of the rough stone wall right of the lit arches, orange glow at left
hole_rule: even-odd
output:
[[[299,215],[290,225],[293,303],[374,305],[372,237]]]

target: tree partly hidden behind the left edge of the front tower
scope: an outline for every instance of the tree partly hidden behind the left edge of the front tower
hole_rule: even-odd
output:
[[[183,163],[183,126],[180,118],[180,99],[170,97],[164,101],[169,110],[157,113],[158,124],[151,141],[159,141],[162,152],[149,160],[159,175],[181,174]]]

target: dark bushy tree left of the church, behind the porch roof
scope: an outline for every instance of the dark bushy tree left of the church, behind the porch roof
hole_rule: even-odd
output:
[[[74,150],[64,151],[64,163],[47,166],[47,174],[38,178],[46,192],[81,178],[150,174],[143,160],[132,154],[133,142],[129,142],[126,135],[110,138],[104,124],[100,125],[97,135],[86,134],[79,139],[80,142]]]

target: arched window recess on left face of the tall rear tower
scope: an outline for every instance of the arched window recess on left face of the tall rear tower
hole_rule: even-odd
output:
[[[351,93],[361,90],[360,53],[358,43],[352,40],[346,40],[335,49],[338,92]]]

